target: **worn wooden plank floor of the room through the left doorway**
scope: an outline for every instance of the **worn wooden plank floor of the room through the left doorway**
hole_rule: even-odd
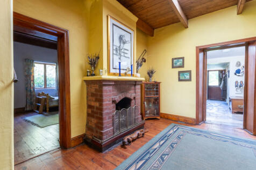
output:
[[[37,114],[17,113],[14,116],[15,165],[59,147],[59,124],[39,128],[22,119]]]

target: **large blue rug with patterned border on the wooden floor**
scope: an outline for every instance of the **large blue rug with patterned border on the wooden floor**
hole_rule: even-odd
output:
[[[256,169],[256,141],[171,124],[116,169]]]

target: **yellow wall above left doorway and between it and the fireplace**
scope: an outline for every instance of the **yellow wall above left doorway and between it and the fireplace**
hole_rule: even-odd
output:
[[[88,53],[90,1],[14,0],[13,11],[68,29],[70,60],[71,135],[81,135],[86,127],[86,54]]]

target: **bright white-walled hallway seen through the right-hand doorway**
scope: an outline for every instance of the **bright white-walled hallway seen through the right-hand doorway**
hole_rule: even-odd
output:
[[[206,123],[243,129],[245,46],[208,50]]]

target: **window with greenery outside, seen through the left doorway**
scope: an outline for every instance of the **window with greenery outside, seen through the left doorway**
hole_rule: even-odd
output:
[[[56,64],[35,62],[34,86],[35,88],[55,88]]]

